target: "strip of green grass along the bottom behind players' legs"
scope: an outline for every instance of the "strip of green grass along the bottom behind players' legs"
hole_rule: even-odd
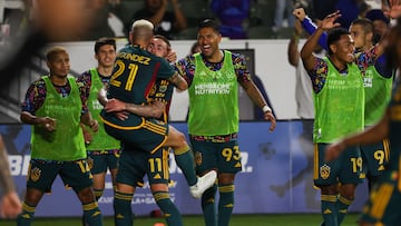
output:
[[[358,214],[345,217],[342,226],[355,226]],[[105,226],[113,226],[113,218],[105,217]],[[282,214],[282,215],[233,215],[231,226],[320,226],[322,217],[319,214]],[[139,217],[135,219],[136,226],[154,226],[155,223],[165,223],[163,218]],[[13,220],[1,220],[0,226],[16,225]],[[79,226],[78,218],[37,218],[32,226]],[[203,226],[202,216],[184,216],[184,225]]]

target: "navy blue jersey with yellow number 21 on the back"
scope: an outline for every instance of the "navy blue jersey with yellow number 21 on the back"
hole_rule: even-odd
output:
[[[156,87],[159,89],[174,73],[175,69],[164,58],[156,57],[138,46],[126,46],[117,55],[107,97],[147,105],[158,92]],[[170,97],[159,97],[162,98]],[[105,110],[100,115],[105,124],[115,128],[138,129],[145,120],[135,114],[130,114],[126,120],[120,120],[114,112],[107,114]]]

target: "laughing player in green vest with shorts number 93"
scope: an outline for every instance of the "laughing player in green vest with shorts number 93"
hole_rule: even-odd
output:
[[[260,90],[252,81],[245,60],[237,53],[219,49],[218,24],[209,19],[199,23],[197,41],[200,53],[177,62],[177,70],[188,81],[188,129],[195,153],[196,173],[217,170],[218,185],[202,196],[202,209],[207,226],[226,226],[234,208],[235,174],[242,170],[238,132],[238,83],[270,120],[275,118]],[[218,212],[215,196],[219,190]]]

